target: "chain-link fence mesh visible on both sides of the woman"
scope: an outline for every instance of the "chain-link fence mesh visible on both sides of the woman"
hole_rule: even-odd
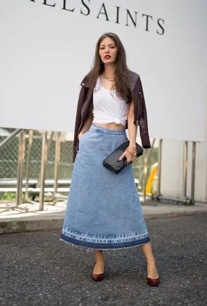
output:
[[[14,129],[9,129],[13,132]],[[52,134],[51,134],[52,136]],[[0,143],[6,138],[6,135],[0,134]],[[16,179],[17,165],[18,165],[18,146],[19,134],[11,139],[0,151],[0,180],[2,179]],[[29,179],[39,179],[40,166],[41,166],[41,147],[42,136],[41,133],[34,131],[31,162],[29,166]],[[147,152],[149,150],[146,150]],[[25,155],[24,155],[24,168],[23,178],[25,177],[26,160],[28,154],[28,131],[26,131],[25,138]],[[70,179],[73,171],[73,141],[61,141],[61,156],[58,170],[59,179]],[[55,141],[51,137],[48,140],[48,159],[46,166],[45,179],[52,179],[54,177],[54,160],[55,160]],[[147,177],[150,174],[151,165],[158,161],[158,148],[153,147],[150,159],[147,162]],[[133,162],[134,177],[140,179],[143,173],[144,160],[143,156],[139,157]]]

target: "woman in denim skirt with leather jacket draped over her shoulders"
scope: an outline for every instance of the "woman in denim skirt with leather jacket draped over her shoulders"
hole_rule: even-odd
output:
[[[61,240],[95,249],[94,281],[104,278],[103,249],[140,246],[146,258],[147,284],[160,283],[150,237],[134,183],[137,125],[144,148],[150,148],[139,75],[127,68],[122,42],[103,34],[92,70],[81,83],[73,143],[74,168]],[[102,164],[120,144],[129,147],[115,174]]]

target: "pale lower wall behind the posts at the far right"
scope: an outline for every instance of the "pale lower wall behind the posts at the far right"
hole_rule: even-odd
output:
[[[188,142],[187,196],[191,198],[192,142]],[[161,194],[182,196],[183,142],[163,140]],[[207,143],[196,143],[195,194],[196,201],[207,202]]]

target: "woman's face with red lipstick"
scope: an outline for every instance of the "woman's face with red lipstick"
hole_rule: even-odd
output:
[[[113,63],[117,55],[117,47],[113,39],[110,37],[104,38],[99,47],[99,55],[104,64]]]

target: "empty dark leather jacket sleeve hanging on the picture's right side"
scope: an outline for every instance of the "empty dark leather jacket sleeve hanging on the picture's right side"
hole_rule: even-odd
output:
[[[150,143],[150,137],[148,132],[148,124],[147,124],[147,114],[146,114],[146,105],[145,105],[145,99],[144,99],[144,93],[142,89],[141,79],[138,78],[138,95],[141,99],[141,116],[139,117],[139,131],[140,131],[140,137],[142,146],[145,149],[151,148]]]

